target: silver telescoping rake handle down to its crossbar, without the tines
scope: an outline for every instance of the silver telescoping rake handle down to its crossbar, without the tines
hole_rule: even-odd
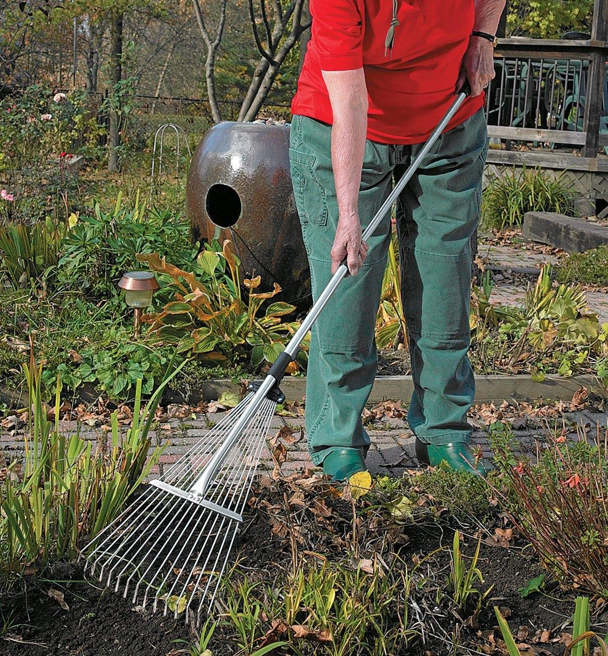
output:
[[[371,220],[369,223],[369,226],[365,229],[365,232],[363,232],[363,241],[369,239],[371,237],[384,216],[386,216],[386,213],[390,211],[392,208],[393,203],[401,194],[401,191],[405,187],[405,185],[409,182],[413,174],[416,172],[418,167],[420,166],[420,163],[422,162],[422,159],[428,154],[429,150],[432,148],[433,144],[436,142],[437,137],[447,127],[448,123],[451,121],[452,117],[455,115],[455,113],[458,111],[458,108],[462,105],[464,100],[468,96],[468,89],[463,89],[458,93],[456,96],[455,101],[443,117],[441,119],[441,122],[439,125],[437,125],[436,129],[434,129],[433,133],[431,136],[428,138],[424,146],[420,149],[420,152],[418,155],[416,155],[415,159],[413,162],[409,165],[407,171],[399,182],[395,184],[395,188],[392,190],[392,192],[388,195],[386,201],[382,203],[382,207],[378,210],[374,218]],[[205,495],[207,491],[209,490],[210,485],[212,485],[213,480],[216,476],[216,473],[220,469],[220,466],[222,465],[222,462],[224,462],[224,459],[228,456],[230,453],[230,450],[232,447],[235,445],[235,443],[239,440],[241,437],[241,434],[243,434],[243,431],[245,428],[247,428],[247,424],[249,423],[249,420],[251,417],[255,415],[255,413],[258,411],[262,403],[264,403],[264,400],[266,398],[270,398],[271,400],[281,402],[284,400],[283,394],[278,388],[279,382],[283,379],[283,376],[285,375],[285,370],[287,369],[287,365],[296,357],[296,354],[298,353],[298,350],[300,348],[300,344],[302,343],[302,340],[304,337],[306,337],[306,333],[310,331],[312,325],[315,323],[317,318],[319,317],[319,314],[321,314],[321,311],[329,301],[329,299],[333,296],[334,292],[336,291],[338,285],[344,279],[344,277],[348,274],[348,266],[346,265],[346,260],[340,264],[338,267],[338,270],[336,273],[333,275],[329,283],[327,284],[327,287],[323,290],[319,298],[315,301],[315,304],[312,306],[310,312],[308,313],[308,316],[302,321],[302,324],[294,334],[294,336],[291,338],[289,341],[289,344],[285,347],[285,350],[279,354],[278,358],[274,361],[272,366],[270,367],[268,374],[266,375],[266,378],[262,380],[260,383],[253,383],[249,386],[250,390],[254,390],[255,394],[251,401],[249,402],[249,405],[245,412],[239,417],[237,422],[235,422],[232,430],[226,436],[226,440],[218,447],[217,451],[214,453],[213,457],[207,462],[205,465],[205,468],[203,469],[203,472],[201,472],[201,475],[195,482],[192,484],[190,487],[190,490],[186,493],[178,488],[174,488],[172,485],[169,485],[167,483],[157,483],[158,487],[163,487],[167,491],[172,491],[173,493],[180,495],[186,499],[189,499],[192,502],[195,502],[201,506],[206,506],[210,510],[214,510],[216,512],[220,512],[221,514],[224,514],[226,516],[230,516],[233,519],[236,520],[242,520],[241,516],[238,515],[237,513],[227,510],[225,508],[222,508],[221,506],[218,506],[216,504],[212,504],[209,501],[205,500]],[[154,485],[155,482],[152,482]]]

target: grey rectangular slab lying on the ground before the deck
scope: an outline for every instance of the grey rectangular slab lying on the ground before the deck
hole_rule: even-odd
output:
[[[555,212],[526,212],[522,235],[569,253],[582,253],[608,243],[608,228]]]

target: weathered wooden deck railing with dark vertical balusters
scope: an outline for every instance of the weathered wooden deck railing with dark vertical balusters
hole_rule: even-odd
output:
[[[490,136],[582,148],[608,146],[608,3],[596,0],[592,38],[499,39],[486,90]],[[559,148],[555,148],[556,155]],[[563,153],[563,150],[562,150]]]

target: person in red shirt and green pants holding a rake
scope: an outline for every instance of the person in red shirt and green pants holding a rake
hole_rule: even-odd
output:
[[[401,297],[419,460],[476,468],[466,420],[475,392],[470,238],[487,154],[483,89],[504,0],[310,0],[312,35],[292,102],[291,176],[317,298],[350,276],[312,330],[306,433],[334,480],[367,470],[361,421],[377,367],[375,323],[390,216],[373,218],[466,81],[470,95],[397,201]]]

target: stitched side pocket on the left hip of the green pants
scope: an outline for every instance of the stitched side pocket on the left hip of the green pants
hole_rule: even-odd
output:
[[[289,149],[291,182],[300,220],[317,226],[327,224],[327,199],[325,190],[314,174],[317,157]]]

